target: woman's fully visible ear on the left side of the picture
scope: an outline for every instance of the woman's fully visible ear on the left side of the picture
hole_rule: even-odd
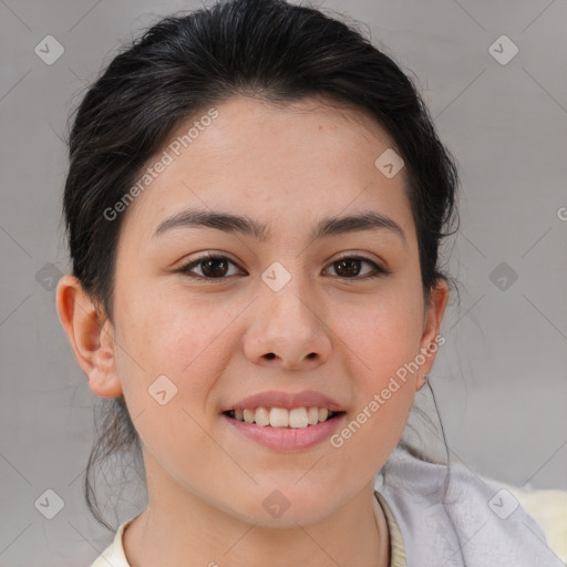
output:
[[[59,280],[56,307],[61,324],[91,390],[102,398],[121,395],[112,323],[84,293],[80,281],[69,274]]]

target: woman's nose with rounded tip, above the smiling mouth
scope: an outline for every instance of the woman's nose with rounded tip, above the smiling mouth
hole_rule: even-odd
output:
[[[292,277],[279,291],[260,286],[244,339],[245,355],[255,364],[310,370],[329,358],[332,333],[320,302],[317,309],[315,295],[298,280]]]

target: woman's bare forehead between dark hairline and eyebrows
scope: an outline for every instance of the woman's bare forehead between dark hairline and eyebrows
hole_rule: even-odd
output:
[[[388,178],[375,165],[393,146],[353,107],[236,96],[183,121],[148,159],[144,171],[159,161],[167,165],[130,205],[123,233],[147,240],[164,218],[189,207],[238,212],[282,230],[288,223],[312,224],[313,216],[372,208],[410,235],[405,171]]]

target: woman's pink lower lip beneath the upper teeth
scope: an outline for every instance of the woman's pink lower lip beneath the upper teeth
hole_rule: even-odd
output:
[[[220,414],[233,427],[251,441],[268,449],[276,451],[300,451],[312,447],[339,429],[346,419],[346,413],[339,413],[337,416],[320,422],[317,425],[307,427],[260,427],[254,423],[235,420],[226,414]]]

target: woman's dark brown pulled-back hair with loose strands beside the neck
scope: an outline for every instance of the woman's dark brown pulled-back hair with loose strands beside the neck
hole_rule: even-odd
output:
[[[63,214],[72,274],[113,321],[113,285],[123,215],[103,214],[136,183],[181,121],[236,94],[286,104],[320,96],[364,111],[402,156],[417,233],[424,298],[440,279],[440,245],[456,220],[457,168],[406,74],[338,17],[282,0],[228,0],[159,20],[115,56],[74,116]],[[378,157],[378,156],[377,156]],[[431,386],[430,386],[431,388]],[[84,476],[94,517],[96,466],[140,440],[123,396],[107,415]],[[110,405],[106,408],[106,405]]]

